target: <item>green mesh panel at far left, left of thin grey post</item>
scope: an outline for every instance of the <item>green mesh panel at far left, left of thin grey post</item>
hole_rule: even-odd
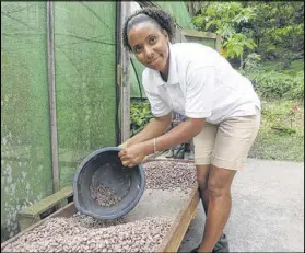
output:
[[[1,241],[51,194],[46,2],[1,2]]]

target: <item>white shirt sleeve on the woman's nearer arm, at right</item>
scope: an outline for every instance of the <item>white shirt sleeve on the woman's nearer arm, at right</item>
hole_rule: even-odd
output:
[[[213,108],[214,68],[200,67],[187,76],[185,114],[189,118],[207,118]]]

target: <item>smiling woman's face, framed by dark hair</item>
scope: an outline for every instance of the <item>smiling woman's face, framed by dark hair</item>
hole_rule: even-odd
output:
[[[168,35],[157,24],[142,22],[128,33],[129,45],[137,59],[148,68],[167,72]]]

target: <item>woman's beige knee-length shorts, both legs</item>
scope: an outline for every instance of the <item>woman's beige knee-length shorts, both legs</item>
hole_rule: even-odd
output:
[[[193,137],[195,163],[242,170],[259,125],[259,110],[257,110],[257,115],[232,117],[219,125],[206,122],[201,133]]]

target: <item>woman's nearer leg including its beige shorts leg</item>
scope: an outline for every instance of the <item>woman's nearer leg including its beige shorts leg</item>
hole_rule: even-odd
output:
[[[238,170],[245,166],[249,149],[260,125],[257,115],[233,117],[220,124],[208,179],[208,216],[199,252],[211,252],[231,212],[231,185]]]

